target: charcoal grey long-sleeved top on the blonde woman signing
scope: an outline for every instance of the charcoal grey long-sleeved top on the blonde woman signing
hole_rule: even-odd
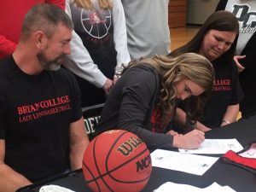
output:
[[[172,148],[172,136],[153,132],[152,114],[158,93],[159,77],[152,67],[127,69],[108,95],[96,135],[122,129],[135,133],[149,150]]]

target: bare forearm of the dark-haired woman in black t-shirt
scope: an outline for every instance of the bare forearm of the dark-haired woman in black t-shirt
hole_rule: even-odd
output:
[[[236,121],[237,115],[239,113],[239,104],[229,105],[226,113],[224,113],[223,121],[221,126],[228,125]]]

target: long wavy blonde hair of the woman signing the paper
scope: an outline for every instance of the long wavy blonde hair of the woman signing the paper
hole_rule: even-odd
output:
[[[200,96],[192,96],[188,108],[188,120],[194,122],[201,116],[207,98],[212,92],[214,70],[210,61],[195,53],[185,53],[177,57],[155,55],[152,58],[141,58],[131,61],[128,68],[137,65],[154,67],[160,77],[160,99],[156,108],[160,110],[160,120],[166,125],[176,109],[177,90],[175,83],[189,79],[200,85],[205,91]]]

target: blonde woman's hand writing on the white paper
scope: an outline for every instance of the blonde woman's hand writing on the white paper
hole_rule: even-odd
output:
[[[199,148],[201,143],[205,141],[205,133],[199,130],[193,130],[185,135],[176,135],[173,137],[174,148]]]

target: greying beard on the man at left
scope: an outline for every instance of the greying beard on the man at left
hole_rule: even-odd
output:
[[[38,53],[38,61],[41,64],[41,66],[47,70],[47,71],[55,71],[58,70],[61,67],[62,64],[62,58],[65,56],[65,54],[61,54],[58,57],[55,58],[55,60],[48,60],[46,59],[46,56],[43,52]]]

